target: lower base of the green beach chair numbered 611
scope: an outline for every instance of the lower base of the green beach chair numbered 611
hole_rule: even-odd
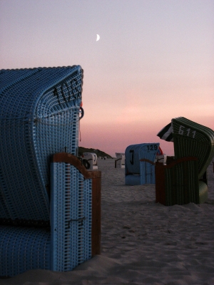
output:
[[[208,186],[198,181],[198,160],[183,157],[170,165],[156,163],[156,202],[173,204],[200,204],[208,199]]]

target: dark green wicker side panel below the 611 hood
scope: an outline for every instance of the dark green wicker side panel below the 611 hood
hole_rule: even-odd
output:
[[[198,161],[165,167],[165,205],[199,203]]]

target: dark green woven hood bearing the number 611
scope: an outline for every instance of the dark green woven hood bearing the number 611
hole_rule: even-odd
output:
[[[207,170],[214,156],[214,131],[186,118],[172,119],[175,159],[198,157],[198,177]]]

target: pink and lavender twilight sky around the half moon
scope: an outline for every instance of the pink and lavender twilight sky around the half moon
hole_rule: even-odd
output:
[[[0,69],[80,65],[79,146],[173,155],[157,137],[172,118],[214,129],[213,15],[213,0],[0,0]]]

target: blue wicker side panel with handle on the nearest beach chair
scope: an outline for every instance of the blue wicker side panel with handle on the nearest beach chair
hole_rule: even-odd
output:
[[[91,258],[92,182],[65,162],[51,174],[51,269],[70,271]]]

